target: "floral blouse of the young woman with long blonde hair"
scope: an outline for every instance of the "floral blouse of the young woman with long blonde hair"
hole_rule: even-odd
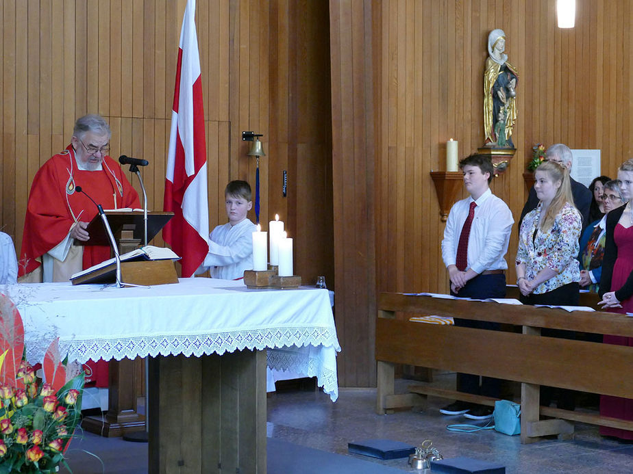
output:
[[[517,250],[517,265],[525,264],[525,278],[528,280],[533,280],[545,267],[558,272],[553,278],[538,285],[534,289],[536,294],[547,293],[580,280],[576,257],[580,250],[578,238],[582,218],[578,209],[567,203],[556,215],[554,225],[549,231],[543,232],[538,228],[542,208],[543,203],[539,202],[536,209],[523,218]]]

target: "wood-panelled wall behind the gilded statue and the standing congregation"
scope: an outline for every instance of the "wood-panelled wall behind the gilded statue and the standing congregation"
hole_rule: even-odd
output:
[[[354,34],[358,15],[371,16],[371,39]],[[375,291],[449,289],[440,255],[444,224],[430,171],[445,170],[450,137],[459,140],[460,157],[483,144],[488,33],[504,29],[509,60],[519,68],[517,154],[492,185],[518,220],[528,194],[522,173],[534,144],[599,148],[609,176],[632,156],[632,16],[628,0],[578,0],[576,26],[564,30],[556,26],[552,0],[330,1],[334,209],[375,197],[375,213],[367,219],[345,209],[342,218],[334,215],[341,384],[375,382],[373,361],[361,356],[373,350],[372,290],[366,287],[371,276],[349,278],[367,272],[347,250],[349,241],[363,248],[359,241],[375,238]],[[377,49],[375,70],[359,70],[356,51],[370,45]],[[359,110],[359,99],[373,108]],[[357,133],[368,115],[376,120],[368,137],[375,154],[365,160],[375,160],[373,186],[367,176],[349,174],[349,160],[361,159],[357,152],[364,150]],[[349,125],[340,130],[340,124]],[[514,228],[509,282],[516,248]]]

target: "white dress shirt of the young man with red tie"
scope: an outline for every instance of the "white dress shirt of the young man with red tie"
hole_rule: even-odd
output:
[[[444,265],[455,265],[462,227],[468,217],[473,198],[456,202],[449,213],[442,240]],[[476,201],[475,218],[468,239],[468,267],[480,274],[484,270],[505,270],[504,256],[512,231],[512,212],[506,203],[488,189]]]

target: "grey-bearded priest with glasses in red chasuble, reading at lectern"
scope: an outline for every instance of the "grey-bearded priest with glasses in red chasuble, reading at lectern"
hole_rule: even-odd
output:
[[[103,117],[79,118],[71,144],[36,173],[18,265],[21,282],[66,282],[74,273],[110,258],[109,246],[83,246],[78,241],[90,238],[86,228],[98,213],[90,198],[103,209],[140,207],[136,189],[108,156],[111,136]]]

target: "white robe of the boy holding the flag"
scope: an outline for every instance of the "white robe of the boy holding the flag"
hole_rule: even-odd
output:
[[[245,219],[232,226],[216,226],[210,233],[209,253],[196,273],[208,269],[212,278],[235,280],[253,269],[253,232],[257,226]]]

